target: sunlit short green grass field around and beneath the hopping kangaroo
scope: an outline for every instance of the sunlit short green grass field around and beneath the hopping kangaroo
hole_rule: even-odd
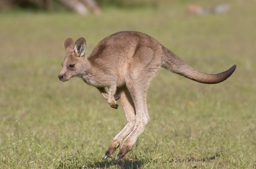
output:
[[[230,0],[228,13],[204,16],[187,15],[188,3],[99,16],[0,13],[0,169],[256,169],[256,1]],[[151,35],[204,73],[237,69],[215,85],[161,69],[133,151],[103,160],[126,124],[122,108],[79,78],[57,76],[67,37],[86,38],[89,55],[122,30]]]

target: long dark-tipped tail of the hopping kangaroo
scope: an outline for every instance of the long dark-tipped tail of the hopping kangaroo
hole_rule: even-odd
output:
[[[201,73],[189,66],[165,47],[163,47],[163,58],[161,66],[166,68],[168,71],[177,73],[193,81],[206,84],[214,84],[225,81],[227,78],[229,78],[229,76],[232,75],[236,68],[236,65],[234,65],[227,71],[218,74]]]

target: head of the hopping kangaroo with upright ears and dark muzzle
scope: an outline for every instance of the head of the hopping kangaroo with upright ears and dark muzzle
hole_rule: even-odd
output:
[[[60,81],[68,81],[70,78],[81,75],[84,72],[84,63],[86,62],[86,41],[84,38],[79,38],[76,43],[72,38],[67,38],[64,47],[67,55],[58,76]]]

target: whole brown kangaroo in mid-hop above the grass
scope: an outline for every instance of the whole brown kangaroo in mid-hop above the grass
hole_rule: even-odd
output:
[[[76,43],[72,38],[67,38],[64,47],[66,56],[58,76],[60,81],[80,77],[85,83],[95,86],[112,108],[118,108],[117,100],[123,107],[127,124],[111,141],[104,159],[110,157],[126,137],[117,159],[123,158],[132,150],[136,139],[144,131],[149,122],[146,91],[160,66],[193,81],[207,84],[225,81],[236,68],[234,65],[219,74],[201,73],[154,38],[134,31],[118,32],[104,38],[88,58],[84,38],[79,38]]]

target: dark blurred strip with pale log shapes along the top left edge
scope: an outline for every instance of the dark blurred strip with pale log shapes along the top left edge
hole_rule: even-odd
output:
[[[154,0],[1,0],[0,9],[3,11],[12,9],[59,11],[69,8],[84,15],[89,11],[100,13],[101,8],[106,6],[136,8],[156,6],[157,3]]]

